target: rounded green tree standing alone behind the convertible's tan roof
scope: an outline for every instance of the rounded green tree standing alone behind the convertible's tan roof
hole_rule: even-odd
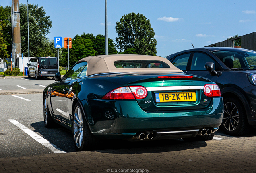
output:
[[[121,52],[134,48],[138,54],[157,54],[155,32],[143,14],[132,12],[122,16],[120,22],[116,22],[115,29],[117,47]]]

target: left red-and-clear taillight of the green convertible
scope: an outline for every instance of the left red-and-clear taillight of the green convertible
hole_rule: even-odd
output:
[[[147,96],[147,89],[141,86],[120,87],[104,95],[102,99],[143,99]]]

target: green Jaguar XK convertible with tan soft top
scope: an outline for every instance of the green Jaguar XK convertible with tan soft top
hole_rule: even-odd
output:
[[[146,55],[89,56],[43,92],[45,127],[73,131],[78,151],[98,139],[213,139],[223,118],[219,87]]]

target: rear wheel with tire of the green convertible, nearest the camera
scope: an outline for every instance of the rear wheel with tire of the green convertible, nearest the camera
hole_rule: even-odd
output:
[[[85,115],[79,103],[76,103],[74,107],[73,139],[77,151],[92,149],[92,147],[97,143],[97,139],[89,129]]]

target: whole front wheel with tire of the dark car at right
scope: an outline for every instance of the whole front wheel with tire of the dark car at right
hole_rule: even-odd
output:
[[[242,136],[249,132],[246,112],[242,102],[235,97],[225,97],[224,116],[221,123],[223,131],[227,135]]]

